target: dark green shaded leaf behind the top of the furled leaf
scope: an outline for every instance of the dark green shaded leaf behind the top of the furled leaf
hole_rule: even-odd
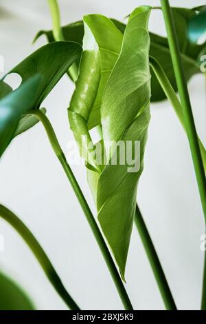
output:
[[[204,54],[206,52],[204,44],[203,45],[192,44],[187,39],[188,21],[190,21],[190,19],[192,19],[193,17],[196,17],[197,12],[200,10],[202,10],[200,7],[193,8],[193,9],[172,8],[174,21],[176,23],[177,29],[179,30],[178,37],[181,46],[183,63],[185,65],[185,75],[187,81],[189,81],[194,74],[201,72],[199,67],[199,64],[201,63],[199,62],[199,57],[201,54]],[[115,26],[122,33],[124,33],[125,24],[115,19],[111,19],[111,20],[113,21],[113,23],[115,23]],[[104,32],[106,32],[106,30],[104,30]],[[82,44],[82,39],[84,36],[83,21],[77,21],[76,23],[71,23],[67,26],[62,27],[62,33],[67,41],[77,41],[78,43]],[[45,34],[45,36],[47,37],[47,41],[49,42],[54,41],[52,30],[48,30],[48,31],[41,30],[41,32],[38,32],[38,34],[36,35],[35,40],[38,39],[38,37],[40,37],[43,34]],[[152,57],[155,57],[155,59],[159,61],[159,63],[163,67],[163,70],[165,70],[165,73],[167,74],[167,77],[170,80],[170,83],[172,84],[174,90],[177,90],[173,67],[172,67],[172,60],[170,57],[170,49],[168,46],[168,40],[165,37],[161,37],[152,32],[150,32],[150,39],[151,39],[150,55]],[[163,92],[161,85],[159,85],[159,81],[157,81],[155,74],[153,72],[151,73],[152,73],[151,101],[163,100],[165,99],[165,93]]]

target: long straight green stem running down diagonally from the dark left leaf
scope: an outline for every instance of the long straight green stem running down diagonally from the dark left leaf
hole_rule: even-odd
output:
[[[29,112],[28,114],[33,114],[43,124],[45,131],[47,132],[49,142],[52,145],[52,148],[54,150],[54,153],[58,157],[58,159],[62,165],[62,168],[65,170],[65,174],[67,175],[67,178],[69,179],[69,182],[71,183],[71,187],[73,188],[73,191],[76,194],[76,197],[82,207],[84,215],[86,216],[87,221],[91,227],[93,235],[95,236],[95,239],[100,247],[100,250],[102,252],[102,255],[104,257],[104,260],[106,262],[108,270],[111,273],[111,276],[112,276],[115,286],[117,288],[117,292],[119,293],[119,297],[122,300],[124,308],[125,308],[125,310],[133,310],[133,306],[130,303],[130,299],[128,298],[128,294],[126,292],[126,289],[124,287],[122,279],[119,276],[119,272],[117,271],[117,268],[115,266],[113,258],[111,257],[111,254],[110,254],[108,247],[104,241],[102,233],[100,232],[98,224],[96,223],[95,218],[89,208],[89,205],[88,205],[86,199],[84,198],[84,194],[82,193],[82,190],[80,189],[80,186],[78,185],[78,182],[76,181],[76,178],[73,175],[73,172],[71,171],[71,168],[69,167],[69,164],[67,163],[65,154],[62,152],[62,149],[60,148],[60,144],[58,143],[58,139],[56,138],[56,134],[54,132],[54,129],[52,128],[52,125],[51,125],[49,119],[47,119],[47,117],[45,116],[45,114],[43,114],[43,112],[41,112],[41,110],[35,110],[32,112]]]

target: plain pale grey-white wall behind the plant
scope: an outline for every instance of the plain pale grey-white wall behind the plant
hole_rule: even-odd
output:
[[[144,0],[60,0],[62,23],[101,13],[124,19]],[[204,1],[170,1],[172,6],[198,6]],[[0,54],[5,72],[45,43],[32,39],[38,30],[50,29],[46,0],[0,1]],[[150,30],[165,34],[161,12],[150,19]],[[3,72],[1,72],[1,76]],[[198,133],[206,144],[205,84],[198,74],[189,83]],[[67,122],[67,106],[73,84],[63,77],[42,106],[52,121],[62,148],[73,139]],[[187,138],[168,101],[151,105],[151,122],[145,168],[139,181],[138,201],[155,243],[176,305],[198,310],[201,303],[203,252],[200,236],[204,220]],[[72,166],[89,201],[84,166]],[[98,245],[71,186],[48,145],[39,123],[16,138],[0,162],[1,203],[16,212],[32,230],[56,267],[63,283],[83,310],[121,310],[122,303],[108,273]],[[66,310],[65,303],[48,282],[38,262],[12,228],[0,221],[4,250],[0,270],[10,274],[32,297],[38,310]],[[136,310],[163,310],[144,248],[134,227],[126,266],[126,289]]]

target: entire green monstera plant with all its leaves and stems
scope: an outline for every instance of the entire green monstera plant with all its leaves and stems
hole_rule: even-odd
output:
[[[197,37],[205,32],[205,25],[198,28],[205,17],[205,7],[171,8],[168,0],[162,0],[160,8],[135,8],[126,24],[102,14],[88,14],[82,21],[61,27],[57,1],[49,0],[48,3],[53,28],[38,32],[34,39],[45,34],[48,44],[8,72],[21,76],[19,88],[12,90],[5,82],[8,74],[0,81],[0,157],[3,159],[14,137],[41,121],[100,247],[124,309],[133,310],[126,292],[125,270],[135,223],[165,308],[177,310],[137,205],[137,187],[144,170],[150,101],[168,99],[190,143],[206,219],[206,152],[196,133],[187,91],[187,81],[201,72],[201,56],[206,54],[205,43],[196,43]],[[148,30],[152,10],[163,11],[168,38]],[[191,37],[192,33],[198,36]],[[64,74],[75,83],[68,108],[68,127],[85,162],[97,217],[92,214],[42,107],[44,99]],[[92,129],[99,132],[98,142],[92,139]],[[131,159],[124,159],[123,163],[122,155],[128,157],[128,154]],[[30,247],[69,309],[80,310],[21,219],[4,205],[0,205],[0,216]],[[206,267],[203,310],[206,310],[205,282]],[[3,274],[0,275],[0,287],[0,310],[34,309],[25,293]],[[3,296],[10,296],[10,301]]]

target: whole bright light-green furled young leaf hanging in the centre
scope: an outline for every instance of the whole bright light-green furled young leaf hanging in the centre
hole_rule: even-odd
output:
[[[80,145],[82,135],[83,141],[91,141],[91,125],[102,124],[104,165],[99,165],[102,151],[96,154],[98,161],[93,159],[94,152],[87,145],[83,145],[81,153],[87,161],[98,219],[123,279],[150,120],[149,14],[148,6],[134,10],[124,37],[110,19],[98,14],[84,17],[84,51],[69,107],[71,129]],[[93,114],[96,107],[100,119]],[[132,165],[128,161],[121,163],[119,149],[113,145],[119,141],[124,144],[129,141],[133,152],[135,141],[141,142]],[[88,157],[84,156],[88,152]],[[115,154],[117,163],[112,164]],[[137,170],[129,172],[138,159]]]

